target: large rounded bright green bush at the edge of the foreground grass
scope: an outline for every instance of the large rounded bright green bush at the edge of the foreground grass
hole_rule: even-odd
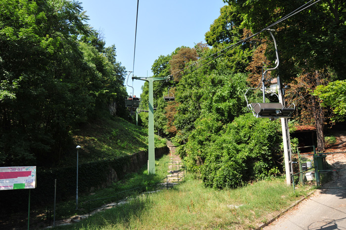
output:
[[[188,170],[199,172],[207,187],[235,188],[273,174],[280,158],[280,128],[278,121],[252,114],[224,126],[211,116],[196,122],[189,142],[179,151],[185,154]]]

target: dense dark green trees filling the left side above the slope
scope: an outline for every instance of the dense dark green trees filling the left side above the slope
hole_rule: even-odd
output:
[[[78,1],[0,0],[0,165],[49,165],[79,124],[124,114],[125,68],[86,21]]]

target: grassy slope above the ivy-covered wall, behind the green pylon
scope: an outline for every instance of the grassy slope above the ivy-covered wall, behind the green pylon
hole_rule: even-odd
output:
[[[148,130],[119,117],[95,120],[76,131],[73,138],[75,144],[82,147],[79,151],[81,164],[114,159],[148,148]],[[155,147],[163,146],[166,146],[166,140],[155,136]],[[73,149],[60,166],[73,166],[75,158]]]

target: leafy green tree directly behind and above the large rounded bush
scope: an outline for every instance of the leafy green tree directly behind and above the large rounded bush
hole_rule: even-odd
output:
[[[218,121],[226,124],[246,108],[246,75],[202,75],[201,71],[204,70],[184,76],[177,87],[179,105],[174,124],[180,141],[187,141],[199,117],[214,114]]]

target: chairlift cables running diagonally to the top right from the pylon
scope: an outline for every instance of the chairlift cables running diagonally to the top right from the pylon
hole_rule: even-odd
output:
[[[181,70],[179,70],[179,71],[176,71],[176,72],[173,73],[172,75],[177,74],[177,73],[180,73],[181,71],[184,71],[185,69],[190,68],[191,66],[197,65],[198,63],[200,63],[200,62],[202,62],[202,61],[204,61],[204,60],[206,60],[206,59],[208,59],[208,58],[210,58],[210,57],[212,57],[212,56],[215,56],[216,54],[218,54],[218,53],[220,53],[220,52],[223,52],[223,51],[225,51],[225,50],[227,50],[227,49],[230,49],[230,48],[234,48],[234,47],[236,47],[236,46],[239,46],[240,44],[243,44],[244,42],[247,42],[248,40],[252,39],[253,37],[255,37],[255,36],[257,36],[257,35],[263,33],[264,31],[266,31],[266,30],[270,29],[271,27],[273,27],[273,26],[279,24],[280,22],[282,22],[282,21],[284,21],[284,20],[286,20],[286,19],[288,19],[288,18],[290,18],[290,17],[292,17],[292,16],[294,16],[294,15],[300,13],[300,12],[303,11],[304,9],[309,8],[310,6],[316,4],[317,2],[319,2],[319,1],[321,1],[321,0],[317,0],[317,1],[315,1],[315,2],[313,2],[313,3],[311,3],[311,4],[309,4],[311,1],[313,1],[313,0],[308,1],[307,3],[305,3],[305,4],[303,4],[302,6],[298,7],[297,9],[295,9],[294,11],[292,11],[291,13],[289,13],[289,14],[287,14],[286,16],[282,17],[281,19],[277,20],[276,22],[272,23],[271,25],[269,25],[269,26],[267,26],[266,28],[262,29],[261,31],[257,32],[256,34],[253,34],[253,35],[249,36],[248,38],[245,38],[245,39],[243,39],[243,40],[241,40],[241,41],[239,41],[239,42],[237,42],[237,43],[235,43],[235,44],[232,44],[231,46],[228,46],[228,47],[226,47],[226,48],[224,48],[224,49],[221,49],[220,51],[217,51],[216,53],[214,53],[214,54],[212,54],[212,55],[210,55],[210,56],[208,56],[208,57],[206,57],[206,58],[203,58],[203,59],[201,59],[201,60],[199,60],[199,61],[197,61],[197,62],[195,62],[195,63],[193,63],[193,64],[191,64],[191,65],[189,65],[189,66],[187,66],[187,67],[185,67],[185,68],[183,68],[183,69],[181,69]],[[307,4],[309,4],[309,5],[307,5]],[[304,7],[305,5],[307,5],[307,6]],[[304,8],[302,8],[302,7],[304,7]],[[298,10],[298,11],[297,11],[297,10]],[[222,56],[223,54],[224,54],[224,53],[219,54],[219,55],[216,56],[215,58],[213,58],[213,59],[207,61],[206,63],[203,63],[202,65],[196,67],[195,69],[191,70],[189,73],[191,73],[191,72],[197,70],[198,68],[200,68],[200,67],[202,67],[202,66],[208,64],[209,62],[215,60],[216,58]]]

